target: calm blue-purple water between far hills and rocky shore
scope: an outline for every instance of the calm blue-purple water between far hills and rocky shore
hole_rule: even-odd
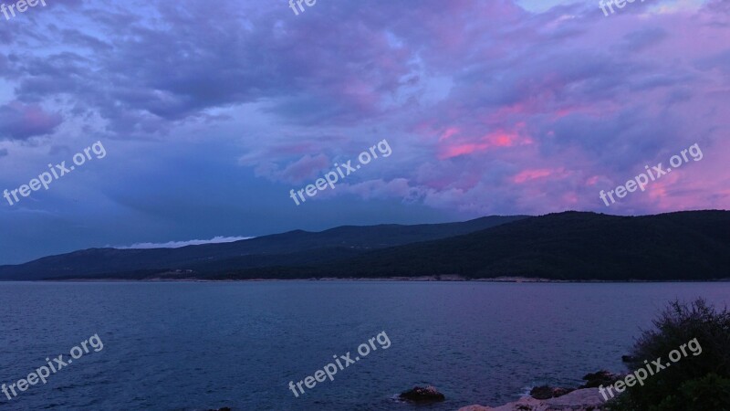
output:
[[[409,411],[391,398],[422,383],[447,401],[419,410],[495,406],[620,371],[666,301],[696,296],[728,303],[730,283],[0,283],[0,384],[104,343],[0,409]],[[289,391],[382,331],[389,349]]]

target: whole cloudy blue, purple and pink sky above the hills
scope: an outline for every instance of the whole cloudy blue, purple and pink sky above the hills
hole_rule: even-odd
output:
[[[727,1],[45,3],[0,15],[0,264],[730,207]]]

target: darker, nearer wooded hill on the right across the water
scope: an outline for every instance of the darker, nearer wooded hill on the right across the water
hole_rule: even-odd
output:
[[[658,216],[565,212],[316,266],[232,270],[215,278],[451,274],[469,279],[704,280],[730,279],[729,268],[730,212]]]

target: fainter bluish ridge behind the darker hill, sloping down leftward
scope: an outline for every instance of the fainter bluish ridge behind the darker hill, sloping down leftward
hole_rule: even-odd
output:
[[[290,231],[222,244],[183,248],[89,248],[38,258],[25,264],[0,266],[0,280],[89,278],[144,278],[149,273],[193,270],[209,275],[228,269],[279,264],[312,264],[351,257],[377,248],[454,237],[516,221],[527,216],[485,216],[459,223],[414,226],[343,226],[321,232]],[[284,259],[282,259],[284,258]]]

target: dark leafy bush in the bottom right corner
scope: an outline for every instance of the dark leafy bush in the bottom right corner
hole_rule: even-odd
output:
[[[610,404],[613,411],[730,411],[730,312],[717,311],[699,299],[675,300],[642,332],[635,343],[630,369],[646,367],[697,339],[702,353],[688,352],[670,367],[649,376],[644,385],[628,387]]]

